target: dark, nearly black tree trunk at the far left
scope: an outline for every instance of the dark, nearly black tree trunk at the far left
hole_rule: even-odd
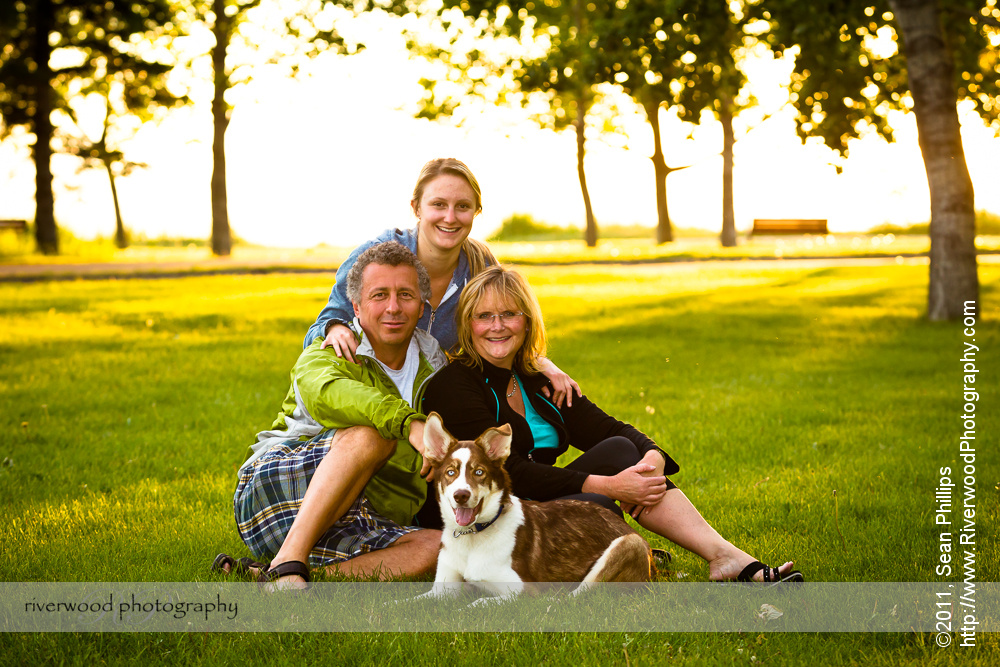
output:
[[[35,160],[35,242],[38,250],[46,255],[59,253],[59,234],[56,231],[55,202],[52,197],[52,69],[49,56],[52,46],[49,33],[52,32],[52,2],[38,0],[35,3],[35,115],[33,129],[35,146],[32,150]]]

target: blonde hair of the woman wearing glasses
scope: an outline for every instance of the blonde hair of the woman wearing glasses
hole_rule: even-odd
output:
[[[514,302],[514,306],[527,317],[524,342],[514,356],[513,369],[522,375],[541,373],[538,359],[545,356],[545,322],[531,285],[517,271],[502,266],[490,266],[470,280],[458,300],[455,319],[458,324],[458,352],[452,359],[466,366],[482,368],[483,360],[472,344],[472,318],[487,294]]]

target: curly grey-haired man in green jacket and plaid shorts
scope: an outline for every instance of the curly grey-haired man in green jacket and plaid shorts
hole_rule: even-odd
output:
[[[447,364],[416,330],[430,295],[405,246],[380,243],[347,277],[359,363],[317,338],[299,357],[281,412],[257,435],[233,504],[240,536],[271,558],[261,574],[282,586],[310,580],[310,565],[356,576],[431,571],[441,535],[410,527],[423,504],[424,415],[414,410]]]

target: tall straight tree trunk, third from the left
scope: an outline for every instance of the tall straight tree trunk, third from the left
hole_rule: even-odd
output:
[[[212,100],[212,119],[215,136],[212,144],[212,252],[229,255],[232,237],[229,230],[229,206],[226,199],[226,128],[229,127],[229,108],[225,93],[229,88],[226,73],[226,50],[229,47],[230,19],[226,16],[225,0],[212,0],[215,13],[215,46],[212,48],[212,66],[215,75],[215,98]]]

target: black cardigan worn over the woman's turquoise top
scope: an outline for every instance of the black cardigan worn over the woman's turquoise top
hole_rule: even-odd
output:
[[[544,375],[520,377],[525,394],[535,411],[555,427],[559,434],[556,448],[534,449],[528,421],[507,402],[507,383],[511,372],[483,362],[480,372],[462,363],[452,363],[431,378],[420,404],[424,414],[437,412],[448,432],[459,440],[475,440],[488,428],[510,424],[513,432],[507,472],[514,485],[514,495],[531,500],[551,500],[580,493],[587,473],[555,467],[556,459],[572,444],[586,451],[612,436],[631,440],[640,455],[658,450],[666,461],[664,473],[678,471],[677,463],[644,433],[631,424],[620,422],[591,403],[586,396],[574,397],[573,406],[557,409],[541,393],[552,386]]]

